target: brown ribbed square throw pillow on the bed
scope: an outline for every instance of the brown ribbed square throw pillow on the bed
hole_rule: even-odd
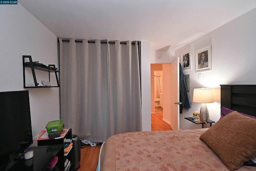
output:
[[[256,157],[256,119],[233,111],[202,133],[200,139],[234,171]]]

